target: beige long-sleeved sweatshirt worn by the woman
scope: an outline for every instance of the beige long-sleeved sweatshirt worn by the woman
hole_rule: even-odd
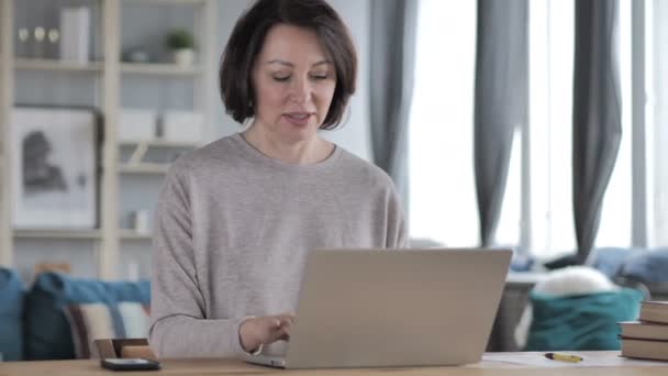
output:
[[[338,146],[286,164],[240,134],[174,163],[155,231],[149,342],[160,357],[240,355],[245,318],[294,311],[311,250],[405,242],[380,168]]]

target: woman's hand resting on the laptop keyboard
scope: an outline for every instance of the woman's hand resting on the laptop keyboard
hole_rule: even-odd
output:
[[[252,353],[263,344],[290,339],[290,327],[294,321],[292,313],[264,316],[242,322],[238,336],[244,351]]]

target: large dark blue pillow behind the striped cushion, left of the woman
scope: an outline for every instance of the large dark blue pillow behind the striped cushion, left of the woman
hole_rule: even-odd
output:
[[[121,322],[116,308],[123,301],[149,305],[151,286],[147,280],[102,281],[76,279],[57,273],[37,276],[25,296],[25,358],[70,360],[75,347],[65,308],[69,305],[104,303]]]

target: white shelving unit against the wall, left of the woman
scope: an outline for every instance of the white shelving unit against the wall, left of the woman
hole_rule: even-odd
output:
[[[192,110],[201,113],[203,124],[211,124],[211,113],[215,104],[215,97],[211,95],[212,82],[215,81],[218,56],[216,14],[219,1],[216,0],[81,0],[77,4],[91,4],[93,11],[99,14],[93,15],[93,48],[91,62],[85,64],[63,62],[55,58],[33,58],[18,56],[15,51],[15,27],[19,26],[21,18],[15,16],[19,7],[26,3],[46,8],[52,7],[48,2],[40,0],[0,0],[0,265],[16,267],[18,244],[29,242],[44,244],[47,248],[52,242],[79,242],[90,244],[90,252],[94,252],[96,273],[102,279],[116,279],[120,275],[123,247],[125,242],[142,244],[148,247],[152,235],[137,233],[134,230],[125,229],[123,218],[127,208],[125,198],[134,196],[133,187],[140,187],[143,191],[152,190],[169,168],[169,162],[154,162],[148,158],[142,161],[144,155],[151,153],[169,153],[172,150],[191,150],[205,142],[180,142],[168,141],[156,137],[148,141],[119,141],[118,123],[120,113],[129,107],[124,101],[123,90],[127,90],[124,85],[127,82],[151,81],[177,84],[168,86],[169,90],[175,91],[182,87],[192,88],[188,93],[192,98],[192,103],[174,108],[174,103],[164,100],[158,104],[159,110]],[[138,7],[141,10],[148,9],[148,14],[155,9],[158,14],[171,14],[169,9],[176,8],[179,14],[192,14],[193,20],[189,23],[197,42],[198,58],[193,65],[179,66],[165,63],[165,58],[152,59],[152,63],[126,63],[122,60],[126,48],[124,45],[123,27],[130,20],[127,14],[135,16],[134,12],[124,12],[125,7]],[[53,7],[52,7],[53,8]],[[49,9],[52,9],[49,8]],[[183,13],[186,12],[186,13]],[[153,19],[153,15],[152,15]],[[165,18],[166,23],[174,22],[172,18]],[[94,22],[97,20],[97,23]],[[171,21],[170,21],[171,20]],[[136,19],[135,19],[136,22]],[[175,25],[158,26],[174,27]],[[144,25],[140,25],[138,30]],[[155,32],[152,31],[152,32]],[[149,34],[146,32],[145,34]],[[133,37],[142,40],[142,35]],[[144,35],[151,37],[152,35]],[[153,35],[155,37],[155,35]],[[23,75],[23,76],[21,76]],[[14,103],[19,102],[15,82],[22,77],[40,75],[40,77],[60,77],[60,81],[67,81],[70,77],[77,80],[89,80],[90,87],[94,88],[91,100],[103,117],[102,144],[100,145],[100,179],[99,186],[99,225],[90,230],[54,230],[54,229],[13,229],[12,225],[12,199],[13,192],[11,185],[7,184],[11,179],[12,156],[10,151],[9,126],[10,117]],[[63,79],[64,77],[64,79]],[[170,85],[170,84],[164,84]],[[155,90],[155,88],[158,88]],[[172,89],[176,88],[176,89]],[[132,88],[134,89],[134,88]],[[151,91],[154,90],[154,91]],[[144,97],[157,98],[162,92],[159,86],[147,85]],[[48,106],[51,103],[42,103]],[[54,103],[60,104],[60,103]],[[133,103],[130,103],[133,104]],[[138,109],[141,106],[138,104]],[[149,108],[156,110],[155,108]],[[203,130],[204,135],[211,134],[209,130]],[[123,151],[132,151],[140,155],[138,161],[123,161]],[[156,152],[157,151],[157,152]],[[130,183],[126,183],[130,181]],[[146,186],[149,187],[146,187]],[[153,186],[151,186],[153,185]],[[156,192],[157,193],[157,192]],[[145,208],[138,208],[145,209]],[[68,243],[69,244],[69,243]],[[78,243],[77,243],[78,244]],[[45,251],[46,252],[46,251]]]

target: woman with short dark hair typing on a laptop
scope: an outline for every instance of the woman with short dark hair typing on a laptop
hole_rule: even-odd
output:
[[[403,245],[390,178],[318,134],[341,122],[356,69],[322,0],[259,0],[238,20],[220,88],[249,126],[177,161],[158,201],[159,356],[233,357],[288,340],[309,251]]]

